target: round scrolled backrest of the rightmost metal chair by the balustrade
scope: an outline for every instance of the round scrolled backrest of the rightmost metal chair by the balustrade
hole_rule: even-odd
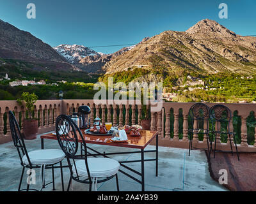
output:
[[[232,113],[227,106],[214,105],[210,109],[210,119],[216,122],[230,122]]]

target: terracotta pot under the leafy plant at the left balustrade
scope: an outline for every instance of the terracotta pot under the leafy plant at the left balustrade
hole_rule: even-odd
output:
[[[36,133],[38,133],[38,120],[37,119],[25,119],[23,122],[23,133],[26,140],[36,139]]]

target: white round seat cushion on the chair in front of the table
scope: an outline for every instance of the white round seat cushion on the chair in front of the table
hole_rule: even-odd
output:
[[[103,157],[92,157],[87,158],[90,176],[95,178],[110,177],[115,175],[120,164],[115,159],[103,158]],[[77,174],[80,177],[88,177],[84,159],[76,161]],[[72,171],[76,175],[76,168],[73,164]]]

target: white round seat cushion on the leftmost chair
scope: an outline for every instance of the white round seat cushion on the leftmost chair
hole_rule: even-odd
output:
[[[33,165],[56,164],[64,159],[65,154],[60,149],[42,149],[28,152],[29,159]],[[28,163],[26,155],[22,157],[24,164]]]

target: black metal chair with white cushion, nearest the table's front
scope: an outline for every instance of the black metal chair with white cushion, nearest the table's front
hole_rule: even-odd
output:
[[[81,130],[77,124],[67,115],[59,115],[56,119],[56,135],[61,149],[67,157],[68,167],[70,170],[70,179],[68,182],[69,191],[72,179],[76,182],[89,184],[89,191],[94,186],[97,191],[97,183],[116,177],[116,187],[119,191],[117,173],[120,164],[115,159],[106,157],[88,157],[86,142],[84,141]],[[80,140],[82,154],[77,154]],[[100,180],[98,180],[100,179]]]

